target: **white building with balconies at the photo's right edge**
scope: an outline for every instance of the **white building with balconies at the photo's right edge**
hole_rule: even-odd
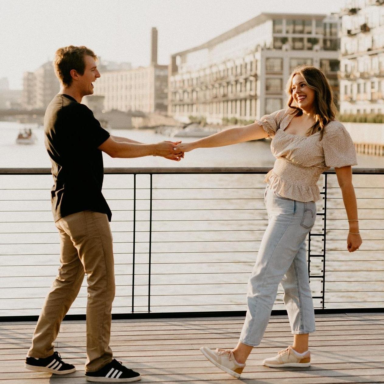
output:
[[[341,18],[340,112],[384,113],[384,0],[348,1]]]

